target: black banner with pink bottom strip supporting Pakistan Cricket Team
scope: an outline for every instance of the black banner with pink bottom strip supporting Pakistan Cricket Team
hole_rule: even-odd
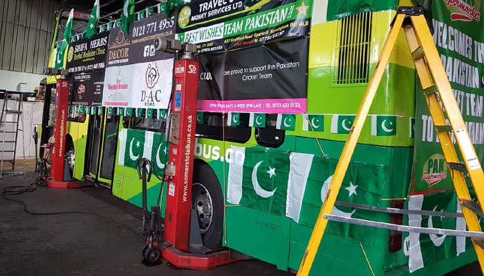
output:
[[[199,111],[302,113],[309,39],[201,55]]]

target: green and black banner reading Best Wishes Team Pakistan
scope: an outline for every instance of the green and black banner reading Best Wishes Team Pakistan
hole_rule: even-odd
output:
[[[312,0],[203,0],[178,10],[177,38],[198,52],[257,46],[310,30]]]

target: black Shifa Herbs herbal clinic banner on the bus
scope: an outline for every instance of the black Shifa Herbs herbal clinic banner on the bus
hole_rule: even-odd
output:
[[[69,46],[66,68],[71,73],[72,105],[99,106],[102,103],[108,37],[108,32],[102,32]]]

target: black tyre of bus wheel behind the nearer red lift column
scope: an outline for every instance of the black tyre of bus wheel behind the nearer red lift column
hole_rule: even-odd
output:
[[[203,189],[197,184],[201,184],[210,195],[212,201],[212,219],[210,226],[203,229],[201,226],[203,245],[210,249],[222,247],[223,237],[223,195],[220,183],[215,172],[205,163],[198,163],[194,166],[194,177],[192,186],[192,208],[196,209],[196,194],[201,193]],[[195,193],[193,193],[195,192]],[[196,209],[197,210],[197,209]],[[201,224],[201,221],[198,221]],[[202,230],[203,229],[203,230]]]

